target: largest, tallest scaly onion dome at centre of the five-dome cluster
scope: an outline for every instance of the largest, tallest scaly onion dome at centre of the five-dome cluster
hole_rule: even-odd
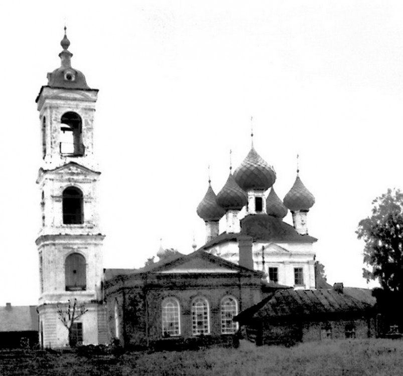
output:
[[[252,147],[234,171],[237,184],[244,190],[268,190],[276,181],[276,172]]]

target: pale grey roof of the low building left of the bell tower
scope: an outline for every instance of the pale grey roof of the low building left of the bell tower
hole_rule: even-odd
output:
[[[6,331],[38,331],[36,306],[0,307],[0,332]]]

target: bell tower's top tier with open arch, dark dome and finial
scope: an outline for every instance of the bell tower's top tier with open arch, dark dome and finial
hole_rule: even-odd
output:
[[[36,99],[41,120],[44,166],[56,167],[69,161],[96,168],[93,158],[92,124],[98,90],[91,89],[82,72],[72,68],[73,54],[65,34],[60,42],[61,65],[48,73]]]

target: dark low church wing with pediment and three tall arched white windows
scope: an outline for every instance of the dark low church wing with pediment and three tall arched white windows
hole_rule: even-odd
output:
[[[232,344],[232,318],[279,288],[204,251],[139,270],[106,269],[104,287],[109,332],[128,348]]]

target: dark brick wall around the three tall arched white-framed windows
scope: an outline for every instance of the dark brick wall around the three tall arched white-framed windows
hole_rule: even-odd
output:
[[[179,301],[182,338],[195,337],[192,333],[192,301],[196,297],[208,301],[210,336],[221,336],[221,300],[225,296],[237,300],[239,313],[261,299],[260,279],[236,273],[200,273],[134,275],[117,280],[105,290],[110,337],[116,336],[117,305],[121,344],[149,346],[151,342],[163,339],[162,301],[167,297]]]

